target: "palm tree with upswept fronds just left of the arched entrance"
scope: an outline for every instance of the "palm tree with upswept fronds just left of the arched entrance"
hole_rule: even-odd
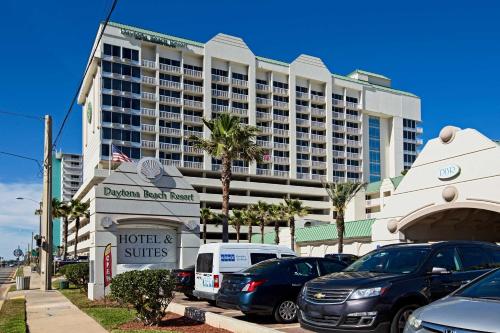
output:
[[[337,235],[339,238],[339,253],[344,251],[345,223],[344,213],[347,204],[364,186],[363,183],[324,183],[323,187],[332,201],[333,209],[337,212],[335,224],[337,225]]]

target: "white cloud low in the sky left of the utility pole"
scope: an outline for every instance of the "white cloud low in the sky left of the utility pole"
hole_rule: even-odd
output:
[[[31,244],[31,232],[38,233],[39,218],[35,215],[42,185],[36,183],[0,183],[0,257],[13,258],[12,251]]]

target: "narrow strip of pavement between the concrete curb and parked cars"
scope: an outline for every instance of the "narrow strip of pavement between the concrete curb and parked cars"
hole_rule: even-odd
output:
[[[311,331],[300,328],[300,325],[298,323],[278,324],[272,318],[266,318],[266,317],[248,318],[247,316],[245,316],[243,313],[241,313],[238,310],[221,309],[221,308],[218,308],[215,306],[211,306],[210,304],[208,304],[205,301],[190,301],[187,298],[185,298],[184,295],[178,294],[175,297],[174,302],[179,303],[179,304],[183,304],[183,305],[189,305],[189,306],[196,307],[199,309],[204,309],[205,311],[210,311],[210,312],[224,315],[227,317],[232,317],[232,318],[236,318],[239,320],[249,321],[249,322],[252,322],[255,324],[274,328],[274,329],[282,331],[282,332],[288,332],[288,333],[309,333],[309,332],[311,332]]]

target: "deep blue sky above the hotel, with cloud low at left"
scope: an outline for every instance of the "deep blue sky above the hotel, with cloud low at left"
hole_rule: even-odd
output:
[[[0,112],[50,114],[57,133],[111,3],[2,0]],[[222,32],[259,56],[304,53],[337,74],[383,74],[421,97],[425,142],[449,124],[500,138],[499,13],[499,1],[483,0],[119,0],[112,21],[200,42]],[[81,152],[80,112],[57,149]],[[42,159],[41,120],[0,113],[0,135],[0,151]],[[41,180],[35,162],[0,154],[0,256],[37,228],[33,203],[15,197],[38,200]]]

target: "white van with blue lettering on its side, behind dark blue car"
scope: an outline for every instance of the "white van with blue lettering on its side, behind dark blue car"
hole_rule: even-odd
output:
[[[280,245],[252,243],[203,244],[198,251],[193,295],[215,301],[224,273],[239,272],[258,262],[273,258],[295,257],[291,249]]]

